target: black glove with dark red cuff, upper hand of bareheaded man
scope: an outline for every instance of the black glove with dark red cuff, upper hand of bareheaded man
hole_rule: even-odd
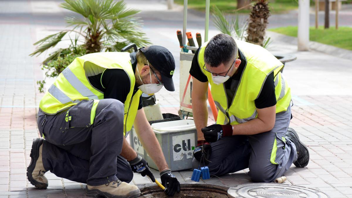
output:
[[[202,132],[207,142],[216,142],[222,137],[232,136],[232,126],[230,124],[213,124],[202,128]]]

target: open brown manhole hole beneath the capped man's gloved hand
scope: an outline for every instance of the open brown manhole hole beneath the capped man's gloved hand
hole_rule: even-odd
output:
[[[181,184],[181,192],[174,197],[181,198],[227,198],[228,187],[210,184]],[[168,197],[159,186],[148,186],[140,189],[140,197],[163,198]]]

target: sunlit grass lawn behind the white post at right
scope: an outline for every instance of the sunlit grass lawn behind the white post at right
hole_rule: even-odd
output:
[[[284,35],[297,37],[297,26],[278,27],[269,30],[282,33]],[[323,29],[323,26],[320,26],[319,29],[310,27],[309,39],[310,41],[316,41],[327,45],[333,45],[338,48],[352,50],[352,27],[339,27],[338,30],[335,29],[335,26],[326,30]]]

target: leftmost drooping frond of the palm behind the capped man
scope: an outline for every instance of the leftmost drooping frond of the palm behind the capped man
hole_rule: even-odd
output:
[[[34,55],[39,56],[49,48],[55,47],[55,45],[61,41],[62,37],[64,37],[67,32],[68,31],[58,32],[56,34],[49,35],[41,39],[40,41],[34,43],[34,45],[39,45],[39,46],[37,46],[36,50],[32,54],[30,54],[30,56],[34,56]]]

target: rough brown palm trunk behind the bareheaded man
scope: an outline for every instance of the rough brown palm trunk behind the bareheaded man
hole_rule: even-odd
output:
[[[258,2],[253,6],[250,17],[249,24],[247,28],[247,38],[246,41],[257,44],[265,45],[268,40],[265,40],[265,29],[268,25],[268,18],[270,16],[270,10],[267,0],[258,0]]]

